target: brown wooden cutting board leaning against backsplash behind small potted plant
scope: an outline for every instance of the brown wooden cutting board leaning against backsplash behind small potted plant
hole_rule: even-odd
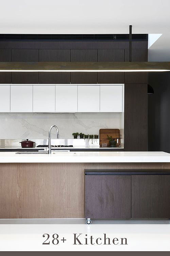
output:
[[[102,146],[102,143],[107,143],[107,146],[109,146],[109,140],[107,139],[108,136],[112,136],[112,138],[115,140],[120,137],[120,130],[119,129],[100,129],[99,130],[99,143],[100,146]],[[120,140],[119,144],[116,144],[117,147],[120,145]]]

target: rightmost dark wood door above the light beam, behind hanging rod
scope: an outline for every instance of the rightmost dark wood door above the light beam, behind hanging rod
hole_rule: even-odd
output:
[[[125,61],[129,61],[129,49],[125,49]],[[132,61],[148,61],[148,49],[132,49]]]

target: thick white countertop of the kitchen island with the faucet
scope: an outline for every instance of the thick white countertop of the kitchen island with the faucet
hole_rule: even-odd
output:
[[[0,152],[0,163],[61,163],[61,162],[170,162],[165,152],[52,152],[48,154],[16,154]]]

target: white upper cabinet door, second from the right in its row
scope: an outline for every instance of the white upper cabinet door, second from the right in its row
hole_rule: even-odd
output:
[[[100,112],[100,85],[78,85],[78,112]]]

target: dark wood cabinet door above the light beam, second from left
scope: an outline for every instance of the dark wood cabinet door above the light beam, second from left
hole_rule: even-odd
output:
[[[38,62],[38,49],[12,49],[12,61]]]

